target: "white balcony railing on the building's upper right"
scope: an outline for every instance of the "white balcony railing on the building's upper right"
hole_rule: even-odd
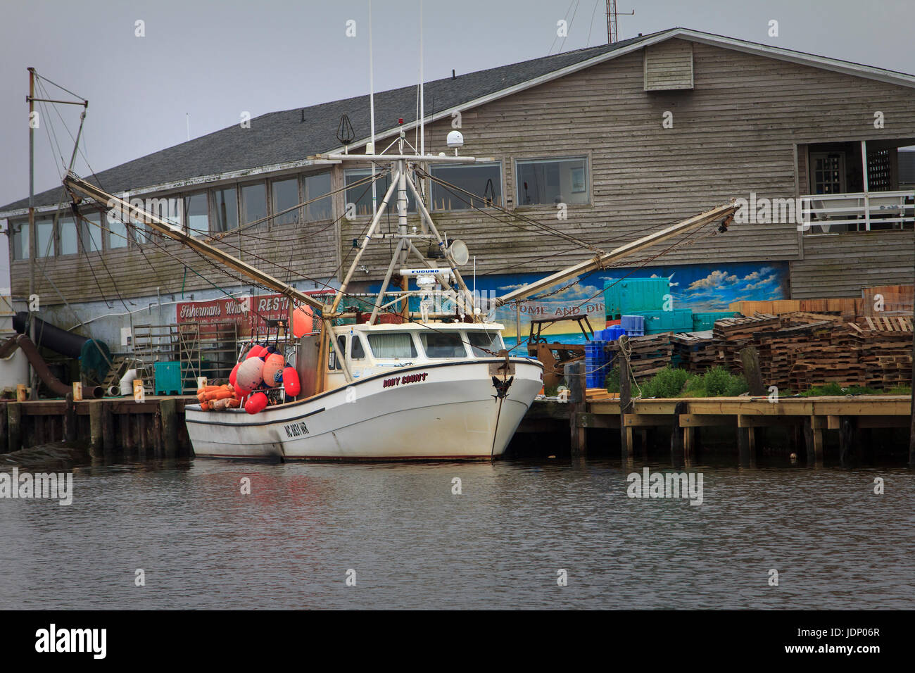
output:
[[[915,226],[915,190],[801,197],[803,233],[870,232]]]

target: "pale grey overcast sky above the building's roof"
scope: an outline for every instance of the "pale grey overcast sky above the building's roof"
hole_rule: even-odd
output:
[[[419,5],[373,3],[376,90],[416,81]],[[605,8],[606,0],[425,0],[426,79],[600,44]],[[915,73],[913,0],[619,0],[619,12],[632,9],[619,18],[619,38],[693,27]],[[28,66],[89,99],[85,151],[96,171],[183,142],[186,113],[196,137],[238,124],[245,110],[368,91],[367,0],[29,0],[0,11],[0,204],[28,193]],[[138,19],[144,38],[135,37]],[[355,38],[345,35],[348,19]],[[778,38],[768,36],[770,19]],[[58,107],[75,133],[80,108]],[[52,121],[69,159],[72,141]],[[59,184],[47,134],[36,134],[36,192]]]

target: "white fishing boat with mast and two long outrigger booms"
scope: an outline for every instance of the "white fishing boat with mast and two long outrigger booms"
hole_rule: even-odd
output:
[[[404,135],[401,135],[403,150]],[[266,406],[185,407],[188,435],[198,457],[236,459],[316,459],[344,461],[492,460],[499,458],[543,386],[543,364],[512,355],[502,341],[503,325],[487,319],[492,309],[541,293],[570,278],[619,263],[653,245],[708,225],[727,229],[737,207],[717,206],[692,218],[650,233],[630,244],[600,254],[562,271],[511,290],[488,306],[479,305],[458,266],[466,250],[442,237],[414,183],[429,162],[474,162],[474,157],[425,155],[322,155],[340,161],[387,164],[392,175],[359,249],[333,299],[320,299],[248,265],[225,251],[193,237],[175,223],[145,212],[69,172],[64,184],[74,199],[87,196],[108,207],[130,212],[130,220],[148,226],[281,292],[308,307],[320,329],[297,344],[296,371],[301,390],[296,399]],[[414,195],[424,231],[407,228],[407,190]],[[376,233],[382,213],[396,192],[396,234]],[[393,255],[377,293],[371,316],[355,322],[340,309],[361,256],[372,241],[394,236]],[[439,255],[420,252],[419,244],[439,248]],[[463,258],[463,259],[462,259]],[[418,266],[408,266],[414,261]],[[437,266],[444,261],[447,266]],[[402,287],[390,292],[396,275]],[[414,278],[417,289],[408,288]],[[574,282],[574,281],[573,281]],[[393,301],[385,303],[391,295]],[[436,299],[444,301],[433,301]],[[419,311],[410,299],[419,299]],[[418,314],[417,314],[418,313]],[[385,320],[382,320],[385,319]],[[339,324],[340,321],[343,324]],[[243,353],[242,353],[243,355]]]

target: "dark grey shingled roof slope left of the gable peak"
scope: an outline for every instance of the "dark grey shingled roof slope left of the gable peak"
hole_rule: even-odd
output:
[[[426,118],[436,111],[468,103],[608,51],[622,49],[647,37],[566,51],[541,59],[470,72],[454,79],[448,77],[429,81],[425,84]],[[399,118],[404,119],[404,124],[414,122],[416,95],[415,84],[375,93],[375,128],[379,131],[391,129],[397,125]],[[369,96],[356,96],[342,101],[262,114],[251,120],[251,128],[235,124],[193,138],[180,145],[102,170],[97,174],[97,181],[106,191],[122,192],[175,180],[304,159],[339,147],[337,128],[341,114],[350,117],[357,138],[369,136]],[[56,205],[61,193],[61,188],[55,187],[36,194],[35,205]],[[0,207],[0,212],[27,206],[28,200],[20,199]]]

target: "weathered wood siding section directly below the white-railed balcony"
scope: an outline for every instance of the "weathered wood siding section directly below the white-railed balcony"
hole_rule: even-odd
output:
[[[791,298],[860,297],[867,285],[915,279],[910,231],[805,236],[804,258],[791,263]]]

